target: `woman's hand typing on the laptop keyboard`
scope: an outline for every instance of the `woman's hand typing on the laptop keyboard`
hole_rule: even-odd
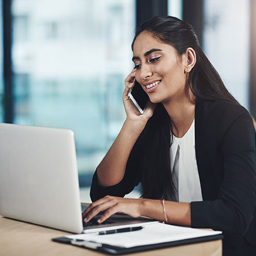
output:
[[[105,221],[115,213],[125,213],[131,217],[137,218],[142,216],[142,200],[128,199],[117,196],[105,196],[95,201],[82,213],[84,222],[90,221],[91,218],[99,213],[104,212],[98,223]]]

